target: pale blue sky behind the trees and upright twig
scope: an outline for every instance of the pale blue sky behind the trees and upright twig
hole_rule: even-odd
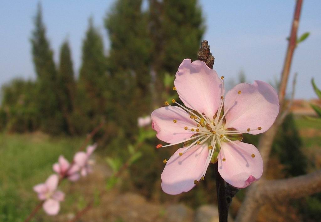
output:
[[[35,78],[30,37],[37,0],[0,1],[0,84],[14,77]],[[54,50],[55,61],[61,43],[71,44],[74,68],[79,70],[81,46],[89,16],[104,36],[105,50],[109,42],[103,18],[113,0],[43,0],[47,37]],[[215,57],[214,69],[225,79],[237,78],[242,70],[247,82],[274,82],[280,78],[290,33],[294,0],[213,1],[200,0],[206,19],[204,39],[209,41]],[[321,1],[304,1],[299,35],[310,31],[309,38],[295,51],[291,79],[298,72],[295,97],[316,98],[310,80],[321,87]],[[178,64],[179,65],[179,64]],[[289,84],[291,89],[291,82]],[[288,87],[289,88],[289,87]]]

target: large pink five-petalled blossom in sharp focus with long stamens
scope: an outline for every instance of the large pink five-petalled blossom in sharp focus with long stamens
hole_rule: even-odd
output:
[[[279,113],[273,87],[262,81],[236,85],[224,96],[224,81],[202,61],[184,59],[174,81],[184,107],[165,102],[152,112],[152,128],[167,147],[187,142],[169,160],[161,175],[168,194],[191,190],[204,180],[208,165],[217,155],[218,171],[232,186],[247,187],[263,172],[263,161],[252,144],[235,138],[242,133],[259,134],[271,127]],[[193,136],[193,137],[192,137]],[[234,139],[232,138],[234,136]]]

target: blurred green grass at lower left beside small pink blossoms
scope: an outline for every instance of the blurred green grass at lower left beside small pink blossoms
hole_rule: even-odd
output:
[[[59,155],[71,160],[83,138],[0,134],[0,221],[23,221],[37,204],[33,186],[53,173]]]

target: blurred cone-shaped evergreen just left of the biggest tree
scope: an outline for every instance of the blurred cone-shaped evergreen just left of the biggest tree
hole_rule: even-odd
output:
[[[82,44],[82,66],[79,75],[77,103],[81,111],[96,125],[106,114],[108,75],[104,45],[99,31],[94,27],[92,18]]]

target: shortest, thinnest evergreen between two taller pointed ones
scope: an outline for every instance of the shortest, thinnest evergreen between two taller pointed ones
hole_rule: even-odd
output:
[[[73,62],[68,41],[65,41],[60,48],[60,64],[58,72],[59,101],[64,115],[66,130],[74,134],[74,126],[71,115],[74,111],[74,97],[76,85],[74,80]]]

